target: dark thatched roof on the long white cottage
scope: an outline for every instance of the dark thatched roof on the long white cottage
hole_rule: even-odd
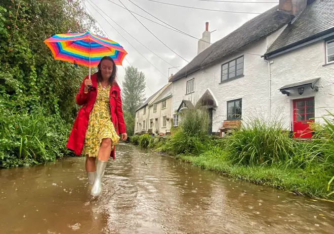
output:
[[[177,72],[170,82],[219,63],[225,56],[275,32],[291,19],[293,16],[284,11],[278,11],[278,6],[262,13],[199,53],[188,65]]]

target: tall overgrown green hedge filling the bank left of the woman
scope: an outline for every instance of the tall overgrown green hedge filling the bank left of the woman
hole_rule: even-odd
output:
[[[69,153],[75,95],[88,68],[54,60],[44,40],[85,29],[99,33],[81,1],[0,0],[0,168]]]

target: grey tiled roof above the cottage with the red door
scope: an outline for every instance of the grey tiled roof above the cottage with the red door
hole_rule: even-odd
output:
[[[334,31],[333,12],[333,0],[317,0],[306,6],[296,20],[288,25],[270,46],[266,55],[296,46],[307,39],[311,40],[314,36],[321,36],[321,33]]]

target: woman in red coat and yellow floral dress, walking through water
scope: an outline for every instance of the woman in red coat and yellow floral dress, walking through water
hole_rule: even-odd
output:
[[[67,142],[67,148],[76,155],[86,154],[86,171],[88,183],[93,185],[93,196],[101,193],[101,180],[109,157],[115,159],[118,134],[122,141],[127,139],[116,73],[114,61],[105,56],[91,80],[84,79],[76,95],[76,103],[82,107]]]

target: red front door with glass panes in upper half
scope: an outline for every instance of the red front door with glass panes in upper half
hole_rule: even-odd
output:
[[[310,122],[314,122],[314,97],[294,100],[294,138],[312,138]]]

